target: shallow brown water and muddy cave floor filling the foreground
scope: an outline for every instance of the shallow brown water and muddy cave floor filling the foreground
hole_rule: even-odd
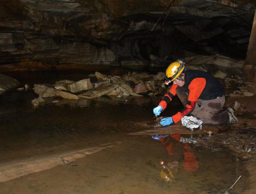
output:
[[[159,128],[157,97],[60,100],[33,109],[35,97],[32,90],[0,96],[1,193],[224,193],[240,176],[229,193],[253,193],[254,149],[236,152],[246,137],[255,140],[253,131]],[[174,101],[165,112],[179,106]],[[163,131],[168,136],[152,138]],[[179,142],[192,136],[196,144]]]

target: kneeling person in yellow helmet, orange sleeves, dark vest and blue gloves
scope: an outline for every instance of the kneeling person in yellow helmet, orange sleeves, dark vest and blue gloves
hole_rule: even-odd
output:
[[[237,122],[231,108],[222,111],[225,103],[225,89],[209,73],[186,70],[184,62],[177,60],[168,66],[165,75],[165,84],[168,85],[172,82],[173,84],[158,106],[153,109],[153,113],[155,116],[159,116],[176,94],[184,105],[184,109],[172,117],[161,119],[161,125],[177,123],[187,115],[197,117],[205,124]]]

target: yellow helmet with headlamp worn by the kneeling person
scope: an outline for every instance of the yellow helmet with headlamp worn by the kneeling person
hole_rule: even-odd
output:
[[[185,69],[184,64],[185,63],[181,60],[177,60],[177,61],[169,64],[169,66],[165,72],[165,83],[166,84],[174,81],[177,77],[180,76],[180,74]]]

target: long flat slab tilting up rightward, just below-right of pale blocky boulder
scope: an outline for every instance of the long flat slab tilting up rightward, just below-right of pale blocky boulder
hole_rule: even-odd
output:
[[[119,85],[114,83],[107,83],[107,84],[102,84],[98,88],[94,88],[90,91],[87,91],[85,93],[79,94],[79,98],[96,98],[100,97],[106,94],[109,94],[113,90],[115,90]]]

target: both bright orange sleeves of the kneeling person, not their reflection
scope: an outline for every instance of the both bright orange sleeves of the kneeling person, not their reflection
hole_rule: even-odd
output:
[[[183,109],[181,112],[176,113],[174,116],[172,116],[172,119],[175,123],[179,122],[182,117],[188,115],[191,113],[194,108],[197,99],[201,95],[202,91],[205,88],[206,79],[205,78],[195,78],[193,79],[190,84],[188,85],[188,99],[185,109]],[[166,108],[167,104],[172,101],[173,97],[176,95],[176,89],[178,85],[173,84],[172,87],[170,87],[169,92],[164,95],[162,101],[159,103],[160,106],[163,107],[163,110]]]

